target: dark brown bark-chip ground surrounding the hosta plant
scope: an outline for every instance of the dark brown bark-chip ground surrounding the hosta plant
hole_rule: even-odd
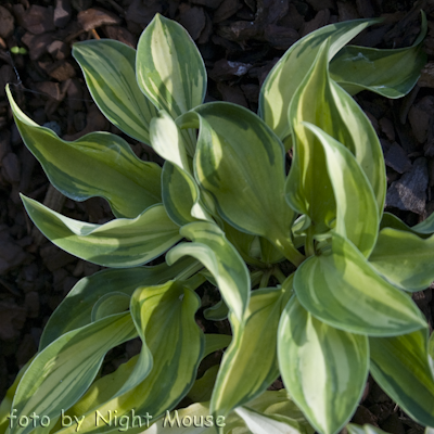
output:
[[[85,263],[48,242],[24,212],[18,192],[69,217],[102,224],[113,218],[99,199],[76,203],[49,187],[46,175],[24,146],[5,99],[10,82],[20,106],[62,138],[107,130],[92,102],[72,44],[93,38],[118,39],[136,47],[156,12],[182,24],[196,42],[209,74],[206,101],[224,100],[257,111],[260,85],[284,51],[301,37],[330,23],[382,16],[384,21],[354,41],[376,48],[412,43],[420,13],[427,14],[427,64],[416,88],[401,100],[357,95],[371,119],[387,165],[386,209],[409,225],[434,210],[434,1],[392,0],[11,0],[0,1],[0,397],[17,370],[36,353],[53,309],[82,277],[101,267]],[[25,49],[14,53],[16,48]],[[143,159],[152,149],[127,138]],[[204,307],[213,294],[201,292]],[[413,295],[430,328],[432,289]],[[228,333],[227,322],[207,331]],[[104,365],[114,370],[140,345],[112,350]],[[280,388],[277,381],[273,388]],[[401,434],[422,431],[396,408],[371,380],[354,417]]]

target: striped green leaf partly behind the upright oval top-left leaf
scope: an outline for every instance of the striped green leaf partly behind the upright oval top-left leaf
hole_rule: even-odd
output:
[[[136,81],[136,50],[117,40],[75,43],[73,56],[104,116],[126,135],[150,144],[150,122],[157,111]]]

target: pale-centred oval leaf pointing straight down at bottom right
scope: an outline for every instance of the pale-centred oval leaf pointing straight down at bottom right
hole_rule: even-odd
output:
[[[278,355],[283,383],[312,426],[337,433],[365,390],[367,336],[321,322],[293,296],[280,320]]]

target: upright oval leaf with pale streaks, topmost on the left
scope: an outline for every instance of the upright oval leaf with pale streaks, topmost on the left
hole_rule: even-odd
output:
[[[202,104],[206,71],[187,30],[156,14],[139,39],[137,81],[158,110],[177,118]]]

